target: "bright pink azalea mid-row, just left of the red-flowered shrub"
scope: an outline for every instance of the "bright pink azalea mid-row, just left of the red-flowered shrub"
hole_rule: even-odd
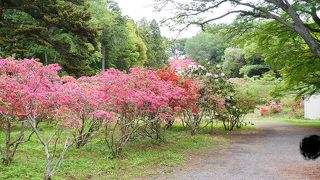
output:
[[[105,94],[104,106],[117,116],[105,133],[114,156],[135,134],[163,139],[161,127],[181,109],[176,102],[185,94],[174,79],[165,81],[155,71],[141,68],[129,73],[110,69],[96,78]]]

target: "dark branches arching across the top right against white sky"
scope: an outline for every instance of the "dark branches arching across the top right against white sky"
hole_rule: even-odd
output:
[[[207,23],[224,18],[230,14],[250,16],[253,18],[273,19],[285,26],[288,30],[296,32],[307,44],[310,51],[320,58],[320,18],[317,11],[320,8],[319,0],[197,0],[183,3],[175,0],[157,0],[161,5],[176,7],[175,22],[190,26],[197,24],[205,26]],[[231,5],[229,10],[220,16],[208,17],[216,8]],[[318,37],[317,37],[318,36]]]

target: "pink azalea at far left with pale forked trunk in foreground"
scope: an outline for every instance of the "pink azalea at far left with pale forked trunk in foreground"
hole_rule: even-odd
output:
[[[23,122],[19,143],[23,139],[24,128],[28,124],[36,137],[44,146],[46,154],[45,179],[49,179],[60,166],[61,160],[70,146],[69,136],[65,139],[64,150],[60,156],[56,152],[56,143],[65,129],[78,127],[80,124],[77,109],[72,106],[72,99],[64,96],[63,83],[58,76],[58,65],[43,66],[33,59],[13,60],[0,59],[0,86],[1,86],[1,121],[10,132],[10,121],[18,119]],[[37,124],[41,121],[51,121],[56,118],[56,133],[45,139]],[[14,145],[14,148],[18,144]],[[10,146],[10,145],[9,145]],[[7,147],[7,150],[10,147]],[[50,151],[50,148],[52,150]],[[13,150],[13,152],[16,149]],[[10,153],[10,150],[7,151]],[[54,162],[55,157],[59,157]],[[54,167],[52,166],[54,164]]]

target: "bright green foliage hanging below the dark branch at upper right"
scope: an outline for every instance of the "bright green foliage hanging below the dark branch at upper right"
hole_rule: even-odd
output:
[[[320,59],[295,31],[276,21],[240,22],[252,27],[236,36],[234,43],[243,48],[247,57],[259,55],[273,70],[280,70],[285,81],[283,90],[300,95],[320,92]],[[244,27],[242,27],[244,28]],[[319,39],[319,34],[314,34]]]

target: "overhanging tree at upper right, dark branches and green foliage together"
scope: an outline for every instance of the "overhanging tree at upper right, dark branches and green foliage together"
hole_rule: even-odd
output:
[[[289,89],[303,93],[320,92],[320,9],[319,0],[198,0],[179,3],[158,0],[165,6],[177,7],[176,16],[169,18],[185,26],[205,26],[230,14],[239,14],[245,22],[237,24],[237,34],[247,34],[248,39],[257,37],[256,42],[246,45],[246,52],[257,51],[273,69],[280,69]],[[229,4],[234,9],[214,16],[216,8]],[[270,21],[271,19],[271,21]],[[250,29],[254,28],[254,32]],[[253,34],[250,34],[253,32]],[[259,33],[260,32],[260,33]],[[242,35],[242,34],[241,34]],[[252,55],[252,54],[251,54]]]

